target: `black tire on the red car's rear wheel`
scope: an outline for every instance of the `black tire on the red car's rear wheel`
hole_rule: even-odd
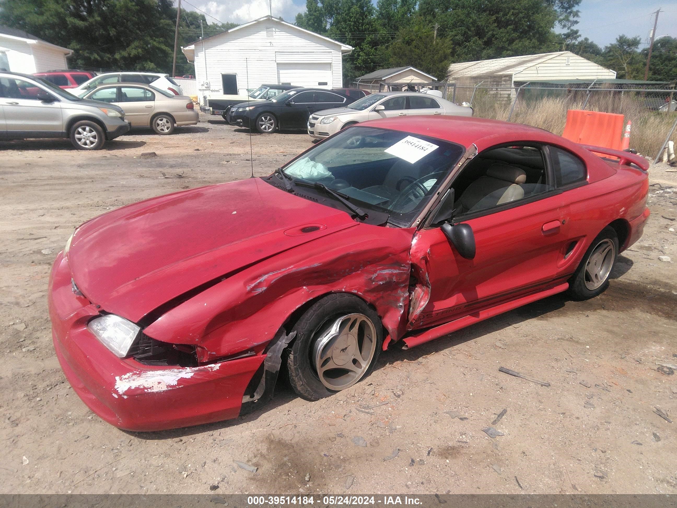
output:
[[[607,247],[611,247],[613,251],[608,252],[600,258],[602,250]],[[609,287],[609,277],[611,276],[617,256],[618,235],[611,226],[607,226],[592,240],[590,247],[583,256],[583,259],[581,259],[580,265],[573,272],[571,278],[569,278],[568,293],[571,299],[578,301],[587,300],[606,291],[607,287]],[[588,261],[591,263],[590,270],[586,270]],[[595,268],[600,268],[600,270],[595,270]],[[597,278],[591,277],[590,273],[596,271],[601,272],[601,275],[597,274]]]

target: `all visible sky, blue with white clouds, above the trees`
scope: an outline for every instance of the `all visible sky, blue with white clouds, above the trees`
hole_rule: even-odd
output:
[[[206,12],[212,22],[244,23],[269,13],[269,0],[192,0],[184,8]],[[509,0],[506,0],[509,1]],[[375,3],[375,0],[374,0]],[[274,16],[293,22],[299,12],[305,11],[305,0],[272,0]],[[677,37],[677,0],[583,0],[579,7],[580,22],[576,28],[582,37],[604,47],[613,42],[617,35],[636,35],[646,43],[649,30],[653,28],[656,9],[663,12],[658,17],[656,37],[670,35]]]

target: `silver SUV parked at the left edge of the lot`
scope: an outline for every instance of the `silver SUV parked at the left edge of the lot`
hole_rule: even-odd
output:
[[[118,106],[78,98],[34,76],[0,72],[0,140],[70,137],[75,148],[98,150],[129,127]]]

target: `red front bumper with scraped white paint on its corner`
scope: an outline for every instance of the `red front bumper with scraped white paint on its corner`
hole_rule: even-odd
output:
[[[68,260],[60,253],[49,277],[49,317],[66,379],[104,421],[130,431],[200,425],[240,413],[242,396],[263,363],[257,355],[217,364],[147,366],[117,358],[87,329],[96,305],[72,293]]]

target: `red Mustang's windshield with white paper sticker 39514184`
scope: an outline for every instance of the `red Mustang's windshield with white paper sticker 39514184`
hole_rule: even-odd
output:
[[[351,127],[284,167],[293,179],[318,182],[351,203],[385,212],[408,227],[435,194],[464,148],[433,137]]]

